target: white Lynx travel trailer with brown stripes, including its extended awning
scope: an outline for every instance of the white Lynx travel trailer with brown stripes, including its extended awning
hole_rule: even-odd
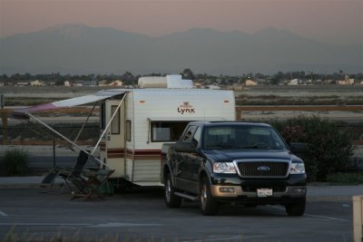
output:
[[[142,88],[106,90],[22,112],[33,118],[31,111],[99,102],[102,134],[94,147],[100,147],[95,159],[114,169],[112,178],[120,182],[159,186],[162,144],[178,140],[189,121],[234,121],[234,95],[232,91],[194,89],[180,75],[143,77],[139,86]]]

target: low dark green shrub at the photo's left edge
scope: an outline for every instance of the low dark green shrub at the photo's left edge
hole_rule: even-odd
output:
[[[0,176],[24,176],[29,171],[29,153],[21,149],[6,150],[0,158]]]

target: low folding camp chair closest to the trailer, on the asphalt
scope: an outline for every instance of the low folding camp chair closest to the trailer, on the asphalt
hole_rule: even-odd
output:
[[[103,198],[102,188],[107,185],[107,180],[113,174],[114,169],[100,169],[91,177],[83,177],[77,179],[71,179],[74,185],[80,188],[80,192],[72,193],[72,200],[75,198],[92,198],[93,195],[98,198]],[[81,188],[82,187],[82,188]]]

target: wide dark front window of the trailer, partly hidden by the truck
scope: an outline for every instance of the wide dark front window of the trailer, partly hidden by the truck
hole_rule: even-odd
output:
[[[177,141],[189,121],[152,121],[152,142]]]

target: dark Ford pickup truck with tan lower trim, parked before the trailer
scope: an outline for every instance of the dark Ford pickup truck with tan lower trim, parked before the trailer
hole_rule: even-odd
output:
[[[265,123],[193,121],[181,140],[162,146],[162,183],[168,208],[182,199],[199,201],[203,215],[216,215],[221,203],[285,206],[301,216],[306,203],[304,163]]]

